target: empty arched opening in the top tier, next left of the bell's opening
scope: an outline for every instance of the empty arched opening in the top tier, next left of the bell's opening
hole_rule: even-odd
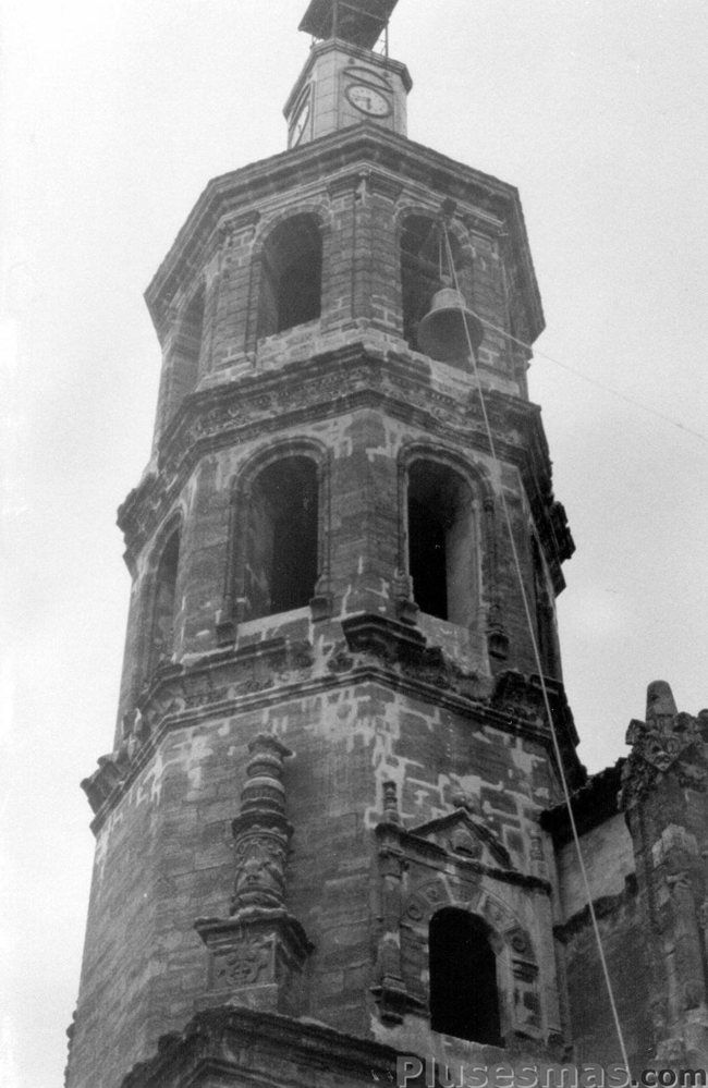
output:
[[[314,321],[321,309],[322,240],[317,219],[293,216],[268,237],[263,250],[258,335],[270,337]]]

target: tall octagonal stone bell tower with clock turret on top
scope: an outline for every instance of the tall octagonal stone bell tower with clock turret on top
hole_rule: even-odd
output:
[[[540,299],[516,190],[406,137],[394,7],[312,0],[288,150],[208,184],[146,293],[162,377],[120,510],[119,725],[83,783],[69,1088],[354,1086],[402,1054],[573,1042],[503,516],[581,786],[554,622],[573,542],[520,346]],[[449,258],[493,450],[469,360],[419,350]]]

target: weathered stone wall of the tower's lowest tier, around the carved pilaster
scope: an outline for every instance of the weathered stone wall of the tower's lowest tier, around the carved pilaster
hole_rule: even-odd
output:
[[[301,647],[300,668],[268,661],[278,636]],[[313,625],[308,610],[253,621],[242,637],[254,653],[261,646],[266,655],[259,680],[248,684],[252,709],[237,709],[243,696],[232,712],[209,709],[243,683],[225,663],[218,679],[184,675],[172,683],[170,697],[160,697],[167,706],[155,711],[156,722],[168,717],[154,754],[148,758],[147,745],[143,770],[105,822],[99,814],[72,1050],[76,1088],[119,1084],[160,1035],[180,1029],[205,1002],[207,953],[193,926],[197,917],[228,914],[230,821],[239,810],[247,743],[260,732],[274,733],[295,753],[284,780],[294,827],[288,906],[315,944],[303,1014],[365,1036],[377,1022],[369,992],[377,940],[374,829],[384,781],[398,784],[406,827],[450,812],[464,795],[514,871],[536,871],[529,853],[535,814],[553,791],[542,746],[484,725],[474,708],[465,711],[460,700],[455,707],[432,689],[423,695],[405,681],[391,687],[386,676],[366,679],[367,670],[356,680],[351,671],[363,661],[342,657],[339,624]],[[307,644],[312,664],[305,668]],[[200,706],[186,708],[180,690]],[[557,985],[548,962],[549,892],[492,885],[533,934],[547,1004]]]

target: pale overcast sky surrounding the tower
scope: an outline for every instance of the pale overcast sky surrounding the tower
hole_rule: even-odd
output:
[[[3,0],[0,1084],[60,1088],[160,353],[142,294],[209,178],[285,147],[305,0]],[[408,135],[518,186],[529,382],[577,545],[559,601],[590,770],[646,685],[708,704],[704,0],[400,0]]]

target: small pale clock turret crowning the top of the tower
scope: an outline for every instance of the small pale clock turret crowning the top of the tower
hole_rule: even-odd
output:
[[[388,48],[396,2],[310,0],[300,29],[313,36],[313,46],[284,108],[289,147],[362,121],[405,136],[412,81]]]

